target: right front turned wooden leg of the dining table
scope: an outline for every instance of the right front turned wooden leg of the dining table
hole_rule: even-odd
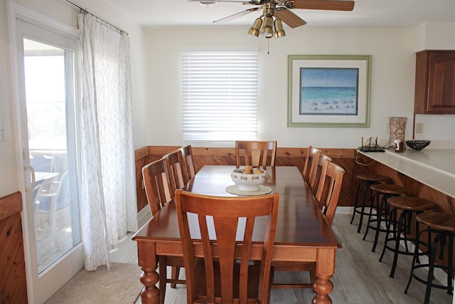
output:
[[[318,249],[316,261],[316,281],[313,289],[316,295],[313,298],[314,304],[331,304],[328,296],[333,290],[333,283],[330,278],[335,272],[335,249]]]

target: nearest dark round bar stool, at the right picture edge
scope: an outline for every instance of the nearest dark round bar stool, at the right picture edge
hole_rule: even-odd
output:
[[[429,303],[429,296],[432,291],[432,287],[440,288],[447,290],[447,293],[451,295],[453,293],[452,287],[452,273],[454,273],[454,261],[453,261],[453,252],[454,252],[454,237],[455,237],[455,215],[454,214],[446,214],[443,212],[434,212],[434,211],[427,211],[422,214],[417,214],[416,216],[417,221],[420,224],[424,224],[427,226],[427,230],[421,231],[419,234],[419,238],[422,236],[424,232],[428,232],[428,234],[437,234],[434,238],[430,249],[429,255],[429,262],[427,264],[419,264],[415,265],[418,257],[418,249],[415,248],[414,251],[414,258],[412,259],[412,266],[411,266],[411,274],[410,274],[410,281],[407,283],[405,293],[407,293],[407,289],[410,287],[412,278],[415,278],[420,283],[424,283],[427,285],[427,290],[425,291],[425,300],[424,304]],[[448,248],[448,263],[447,266],[444,265],[435,265],[434,261],[436,260],[437,256],[437,246],[438,243],[441,244],[441,248],[439,251],[439,258],[444,258],[444,245],[446,244],[446,239],[449,239],[449,248]],[[414,273],[414,270],[417,268],[427,267],[428,268],[428,277],[427,280],[419,278]],[[434,268],[441,268],[447,272],[447,283],[446,285],[439,285],[437,283],[433,283],[433,272]]]

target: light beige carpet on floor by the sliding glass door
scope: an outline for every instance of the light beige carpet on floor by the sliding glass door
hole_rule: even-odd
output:
[[[135,303],[141,293],[141,268],[131,263],[112,263],[96,271],[82,269],[53,295],[48,304]]]

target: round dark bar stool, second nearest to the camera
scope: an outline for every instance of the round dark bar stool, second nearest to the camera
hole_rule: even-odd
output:
[[[385,235],[384,247],[382,248],[381,257],[379,261],[382,261],[384,256],[385,249],[388,249],[394,253],[392,270],[390,271],[390,278],[395,276],[395,268],[397,267],[398,254],[404,254],[407,256],[414,256],[414,251],[410,251],[407,248],[407,234],[410,234],[412,219],[417,214],[421,214],[423,211],[427,211],[434,208],[434,203],[428,201],[427,199],[421,199],[415,196],[393,196],[387,199],[387,204],[390,206],[390,217],[387,223],[387,233]],[[397,220],[397,212],[402,211],[400,218]],[[414,216],[413,216],[414,215]],[[393,228],[391,228],[391,223],[395,223]],[[396,224],[397,223],[397,224]],[[415,246],[419,248],[419,222],[415,221]],[[392,236],[390,236],[390,234]],[[387,244],[390,241],[395,241],[395,246],[388,246]],[[405,241],[405,251],[400,250],[400,242]],[[429,243],[422,243],[424,246],[429,248]],[[417,259],[419,256],[427,254],[429,252],[421,252],[417,254]]]

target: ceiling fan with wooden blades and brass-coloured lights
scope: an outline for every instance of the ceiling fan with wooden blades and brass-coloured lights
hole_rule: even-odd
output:
[[[352,11],[354,9],[354,1],[343,0],[188,0],[198,1],[202,5],[215,4],[216,2],[239,2],[245,5],[255,5],[252,9],[240,11],[237,14],[227,16],[223,19],[213,22],[224,22],[236,19],[240,16],[245,16],[253,11],[262,9],[262,15],[259,16],[253,23],[253,26],[248,30],[250,35],[259,37],[259,33],[265,38],[279,38],[286,36],[282,22],[286,23],[291,28],[304,26],[306,21],[294,14],[290,9],[321,9],[331,11]]]

